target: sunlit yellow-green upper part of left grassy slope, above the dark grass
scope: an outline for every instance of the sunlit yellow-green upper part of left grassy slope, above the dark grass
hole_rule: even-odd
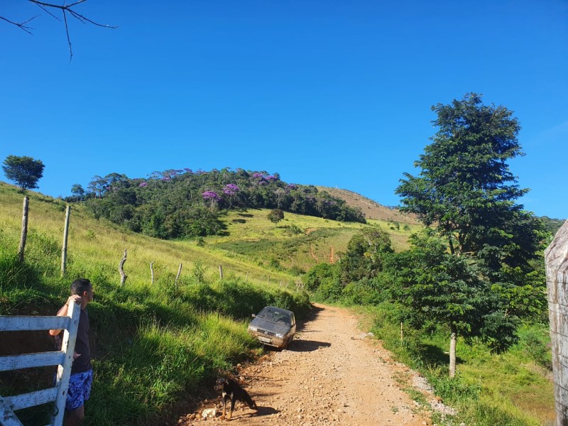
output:
[[[52,251],[60,251],[63,225],[65,222],[65,202],[51,197],[28,193],[30,201],[29,239],[30,243],[42,241]],[[10,185],[0,183],[0,226],[4,238],[17,244],[21,231],[21,209],[23,197]],[[268,222],[268,221],[267,221]],[[268,222],[267,226],[270,224]],[[128,251],[125,271],[129,276],[127,283],[142,285],[150,283],[150,262],[154,263],[156,278],[160,275],[175,275],[182,263],[182,275],[187,275],[196,262],[202,263],[207,274],[216,275],[222,264],[225,273],[245,277],[249,272],[250,280],[258,280],[266,275],[266,270],[243,263],[237,258],[214,253],[205,246],[198,246],[195,241],[165,241],[136,234],[119,228],[104,219],[95,220],[84,211],[81,205],[72,206],[69,229],[70,274],[108,275],[111,282],[119,282],[117,270],[124,249]],[[76,266],[81,265],[76,271]],[[112,277],[116,276],[116,280]],[[271,273],[273,280],[290,282],[293,276],[278,271]]]

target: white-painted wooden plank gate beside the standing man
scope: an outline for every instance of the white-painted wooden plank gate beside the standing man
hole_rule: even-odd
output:
[[[37,352],[35,354],[19,354],[0,356],[0,371],[18,370],[20,368],[58,366],[57,379],[53,388],[43,389],[21,395],[0,395],[0,425],[22,426],[15,410],[34,407],[45,403],[55,402],[50,425],[61,426],[65,413],[65,400],[69,388],[69,377],[75,339],[79,327],[80,305],[70,302],[66,317],[18,317],[0,316],[0,332],[38,331],[63,329],[63,339],[60,351]]]

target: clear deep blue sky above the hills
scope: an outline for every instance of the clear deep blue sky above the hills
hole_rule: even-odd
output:
[[[54,0],[55,1],[55,0]],[[39,191],[171,168],[278,172],[381,204],[435,133],[433,104],[512,109],[520,202],[568,217],[568,1],[111,1],[62,23],[0,16],[0,160],[43,160]],[[3,175],[0,179],[5,180]]]

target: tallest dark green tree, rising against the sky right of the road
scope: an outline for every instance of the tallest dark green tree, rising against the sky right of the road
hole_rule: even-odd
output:
[[[544,302],[545,282],[535,279],[534,262],[545,230],[539,219],[516,203],[528,190],[518,186],[507,163],[523,155],[520,125],[512,111],[484,105],[474,93],[451,104],[437,104],[432,111],[437,114],[433,124],[438,131],[415,162],[420,173],[405,173],[396,192],[404,212],[417,214],[434,227],[447,241],[449,254],[468,258],[491,285],[499,302],[492,305],[493,315],[478,315],[486,321],[479,328],[488,331],[491,320],[496,328],[498,317],[512,320]],[[525,294],[534,300],[523,306],[518,301]]]

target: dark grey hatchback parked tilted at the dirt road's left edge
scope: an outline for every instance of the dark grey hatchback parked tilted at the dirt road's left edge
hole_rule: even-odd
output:
[[[294,312],[280,307],[267,306],[258,315],[253,315],[249,333],[259,342],[284,349],[294,339],[296,320]]]

